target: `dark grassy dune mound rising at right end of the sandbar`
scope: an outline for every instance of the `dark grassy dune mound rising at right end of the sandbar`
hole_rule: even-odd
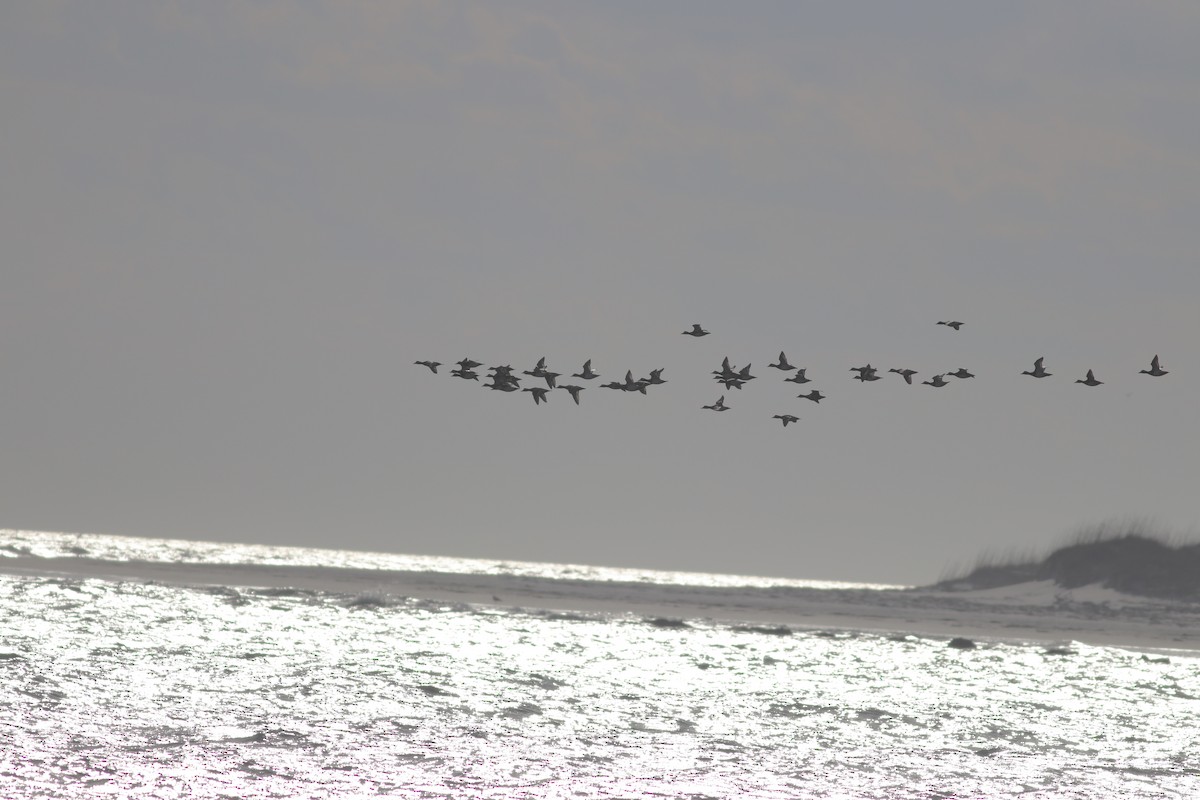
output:
[[[932,588],[966,591],[1030,581],[1063,589],[1100,584],[1144,597],[1200,601],[1200,542],[1174,545],[1142,525],[1102,525],[1042,559],[984,559]]]

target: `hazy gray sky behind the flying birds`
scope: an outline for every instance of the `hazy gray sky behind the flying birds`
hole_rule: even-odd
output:
[[[1189,1],[6,2],[0,527],[889,582],[1196,533],[1198,41]],[[413,365],[464,356],[668,383]]]

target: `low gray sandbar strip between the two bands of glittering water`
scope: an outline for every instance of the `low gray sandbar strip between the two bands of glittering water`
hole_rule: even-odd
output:
[[[978,640],[1122,646],[1200,657],[1200,604],[1031,583],[980,591],[714,588],[530,576],[258,564],[0,558],[0,573],[176,587],[301,589],[503,608],[637,615],[797,631],[863,631]]]

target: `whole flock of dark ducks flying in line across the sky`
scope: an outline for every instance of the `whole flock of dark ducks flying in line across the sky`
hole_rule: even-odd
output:
[[[960,323],[958,320],[942,320],[938,321],[937,324],[946,325],[955,331],[961,329],[964,325],[964,323]],[[698,323],[696,323],[691,326],[691,330],[683,331],[683,335],[694,336],[698,338],[701,336],[708,336],[709,332],[710,331],[706,331]],[[1026,369],[1021,374],[1031,375],[1033,378],[1049,378],[1054,373],[1046,372],[1044,362],[1045,362],[1044,356],[1037,359],[1033,362],[1033,368]],[[427,361],[427,360],[415,361],[414,363],[418,363],[422,367],[428,367],[428,369],[434,374],[437,374],[438,367],[442,366],[440,361]],[[475,369],[482,367],[484,365],[479,361],[473,361],[470,359],[462,359],[461,361],[456,362],[456,366],[458,367],[457,369],[450,371],[450,374],[454,375],[455,378],[461,378],[463,380],[479,380],[480,375],[478,372],[475,372]],[[779,361],[768,365],[768,367],[773,367],[781,372],[794,373],[791,378],[784,379],[787,383],[806,384],[810,383],[811,380],[805,374],[806,371],[804,368],[796,367],[788,363],[787,355],[782,351],[780,351],[779,354]],[[649,389],[650,386],[656,386],[659,384],[667,383],[666,379],[662,377],[664,371],[665,369],[652,369],[649,375],[647,375],[646,378],[635,379],[634,372],[630,369],[625,372],[624,380],[613,380],[607,384],[600,384],[600,386],[602,389],[612,389],[616,391],[625,391],[625,392],[641,392],[642,395],[644,395],[647,389]],[[857,375],[854,375],[853,380],[858,380],[862,383],[870,383],[875,380],[881,380],[883,378],[883,375],[878,374],[878,369],[876,367],[872,367],[870,363],[868,363],[864,367],[851,367],[850,372],[858,373]],[[888,369],[888,372],[896,373],[908,385],[912,385],[913,375],[918,374],[916,369],[907,369],[899,367],[890,368]],[[1168,374],[1168,371],[1163,369],[1163,367],[1160,366],[1157,355],[1153,359],[1151,359],[1150,369],[1139,369],[1138,372],[1139,374],[1151,375],[1154,378],[1160,378]],[[487,389],[500,392],[515,392],[515,391],[529,392],[533,396],[533,402],[539,405],[541,403],[548,402],[550,391],[553,389],[562,389],[566,391],[571,396],[571,399],[575,401],[575,404],[578,405],[580,392],[584,390],[583,386],[580,386],[577,384],[558,385],[558,379],[562,378],[563,375],[562,373],[553,372],[546,367],[545,356],[538,360],[538,363],[534,366],[533,369],[527,369],[521,373],[522,375],[529,375],[530,378],[544,380],[546,383],[545,386],[521,386],[521,381],[523,380],[523,378],[521,375],[515,374],[511,366],[487,367],[487,373],[488,373],[487,379],[491,381],[484,384],[484,386],[486,386]],[[583,362],[583,367],[580,369],[580,372],[571,374],[571,378],[578,378],[581,380],[594,380],[599,377],[600,373],[594,372],[592,369],[590,359]],[[936,375],[932,375],[929,380],[923,380],[920,383],[924,386],[932,386],[935,389],[941,389],[943,386],[949,385],[950,381],[947,380],[948,377],[959,380],[974,378],[974,375],[971,372],[968,372],[965,367],[959,367],[954,372],[938,373]],[[727,356],[725,357],[724,361],[721,361],[721,368],[713,371],[713,379],[716,383],[724,385],[726,390],[730,389],[740,390],[748,383],[755,380],[755,378],[756,375],[750,374],[750,365],[738,368],[732,363],[730,363],[730,359]],[[1100,386],[1103,385],[1104,381],[1097,380],[1093,371],[1088,369],[1087,374],[1084,378],[1075,380],[1075,383],[1084,384],[1085,386]],[[822,395],[818,390],[814,389],[805,395],[797,395],[797,397],[803,399],[810,399],[814,403],[820,403],[822,399],[826,398],[826,395]],[[731,407],[725,404],[725,395],[721,395],[715,403],[710,405],[702,405],[701,408],[712,411],[728,411]],[[791,414],[775,414],[772,419],[781,421],[785,428],[790,423],[799,421],[799,417],[793,416]]]

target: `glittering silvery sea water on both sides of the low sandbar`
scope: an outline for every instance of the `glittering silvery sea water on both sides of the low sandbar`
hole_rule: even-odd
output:
[[[1200,796],[1187,654],[6,575],[0,620],[5,798]]]

